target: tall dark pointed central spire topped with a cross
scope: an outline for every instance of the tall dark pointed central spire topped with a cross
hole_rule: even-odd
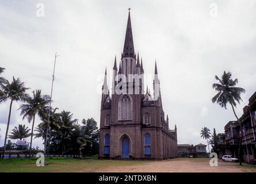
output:
[[[123,56],[134,57],[134,54],[135,54],[135,52],[134,52],[134,47],[133,47],[132,25],[131,25],[131,16],[130,16],[130,9],[129,9],[125,41],[124,41]]]

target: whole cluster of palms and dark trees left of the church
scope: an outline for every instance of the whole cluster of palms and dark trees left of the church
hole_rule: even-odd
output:
[[[58,108],[50,109],[50,96],[43,95],[41,90],[32,91],[32,95],[28,95],[25,92],[29,88],[25,87],[24,82],[21,82],[19,78],[13,77],[11,83],[7,81],[1,76],[4,70],[5,68],[0,67],[0,103],[11,99],[6,132],[9,131],[13,101],[23,102],[19,110],[21,110],[23,120],[27,118],[28,122],[32,122],[32,128],[28,129],[25,125],[19,124],[9,135],[10,139],[20,140],[31,136],[30,144],[19,146],[10,141],[6,144],[8,138],[6,133],[4,147],[0,150],[5,151],[5,148],[8,150],[28,150],[29,146],[31,154],[35,154],[39,148],[32,148],[33,136],[35,138],[42,137],[45,140],[46,132],[48,132],[47,152],[49,154],[81,154],[81,152],[83,155],[98,154],[99,129],[93,118],[83,120],[83,125],[78,125],[78,120],[72,117],[71,112],[63,110],[61,113],[57,113]],[[39,116],[42,122],[35,128],[36,133],[34,134],[35,116]],[[30,130],[31,133],[29,133]]]

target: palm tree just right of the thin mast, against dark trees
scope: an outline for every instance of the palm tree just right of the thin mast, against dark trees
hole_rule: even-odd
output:
[[[62,156],[64,156],[65,140],[69,139],[69,133],[74,128],[77,119],[72,120],[73,114],[71,112],[63,110],[60,113],[60,132],[61,132],[61,143],[62,143]]]

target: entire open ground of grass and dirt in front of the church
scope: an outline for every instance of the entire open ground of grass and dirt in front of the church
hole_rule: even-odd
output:
[[[49,166],[38,167],[38,158],[0,160],[1,172],[256,172],[256,166],[243,163],[222,162],[210,167],[208,158],[179,158],[161,161],[101,160],[98,158],[49,157]]]

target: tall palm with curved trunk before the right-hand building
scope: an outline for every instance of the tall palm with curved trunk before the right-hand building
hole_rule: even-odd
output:
[[[241,94],[245,93],[245,90],[242,87],[235,87],[238,83],[238,79],[233,80],[231,78],[232,74],[231,72],[225,72],[221,76],[221,79],[218,78],[216,75],[215,78],[219,83],[213,84],[213,89],[218,91],[218,93],[212,98],[212,102],[216,102],[218,105],[220,105],[222,108],[227,109],[227,104],[230,104],[233,110],[233,113],[235,114],[236,119],[238,120],[238,124],[240,127],[240,121],[238,116],[236,115],[234,107],[236,107],[236,103],[240,104],[240,101],[242,101]],[[241,153],[241,145],[242,145],[243,136],[240,138],[239,142],[239,162],[240,165],[242,165],[242,153]]]

